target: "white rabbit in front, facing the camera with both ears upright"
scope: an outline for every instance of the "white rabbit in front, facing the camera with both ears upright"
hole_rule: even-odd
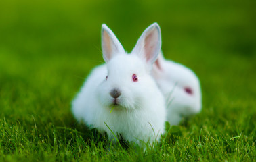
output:
[[[130,54],[103,24],[106,64],[91,72],[72,101],[74,117],[106,132],[110,140],[116,140],[115,134],[136,144],[158,141],[165,130],[165,99],[150,72],[160,49],[161,31],[156,23],[146,28]]]

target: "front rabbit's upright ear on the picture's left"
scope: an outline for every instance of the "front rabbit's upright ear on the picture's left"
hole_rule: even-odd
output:
[[[120,53],[125,53],[123,46],[112,30],[110,30],[106,24],[102,24],[102,54],[105,62],[108,63],[114,55]]]

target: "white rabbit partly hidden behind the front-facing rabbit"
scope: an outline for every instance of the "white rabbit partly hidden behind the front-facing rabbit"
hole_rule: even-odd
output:
[[[182,117],[199,113],[202,108],[200,82],[184,65],[165,60],[163,53],[154,63],[152,76],[165,96],[167,121],[179,124]]]

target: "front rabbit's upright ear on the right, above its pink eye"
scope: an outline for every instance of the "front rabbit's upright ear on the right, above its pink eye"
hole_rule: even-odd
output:
[[[133,51],[147,63],[153,64],[161,49],[161,31],[157,23],[154,23],[142,33]]]

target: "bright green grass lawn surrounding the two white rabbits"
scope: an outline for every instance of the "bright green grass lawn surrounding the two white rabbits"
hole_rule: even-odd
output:
[[[1,161],[255,161],[255,1],[0,1]],[[152,22],[192,68],[202,112],[156,148],[120,148],[77,124],[70,102],[102,63],[106,23],[127,51]]]

